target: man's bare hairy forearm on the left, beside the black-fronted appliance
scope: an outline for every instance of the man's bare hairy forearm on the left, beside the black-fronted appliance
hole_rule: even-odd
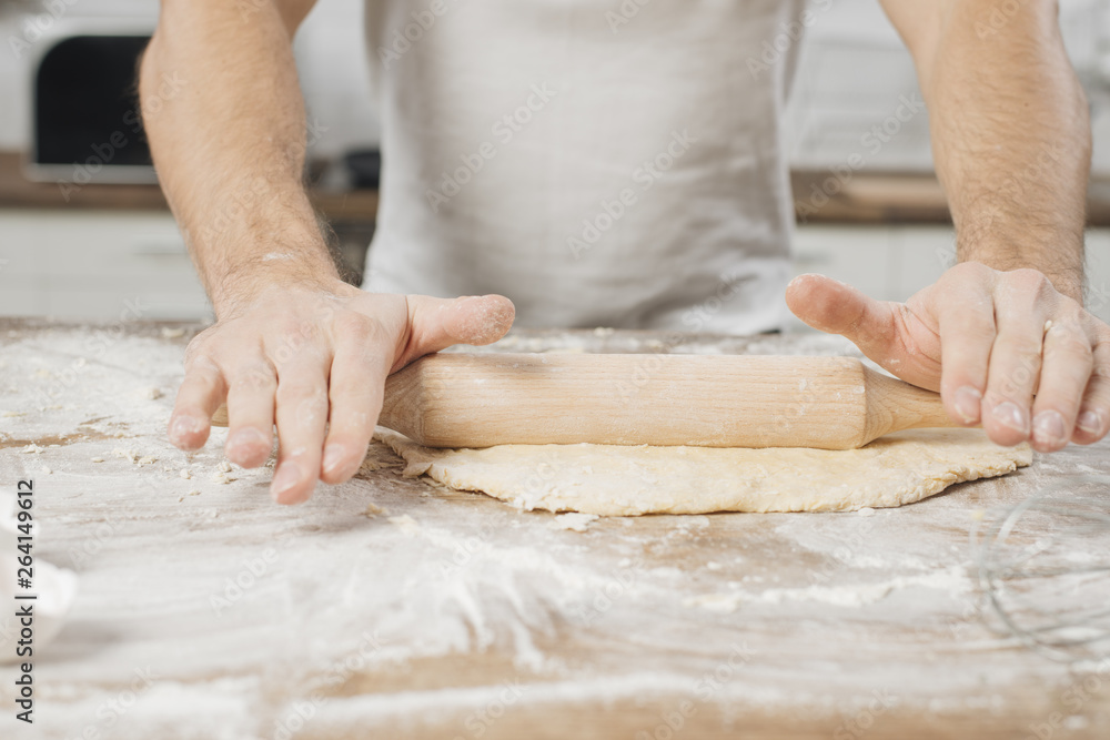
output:
[[[252,9],[163,2],[140,72],[159,180],[218,315],[275,280],[336,277],[303,185],[295,23],[272,4]],[[158,99],[173,74],[185,84]]]

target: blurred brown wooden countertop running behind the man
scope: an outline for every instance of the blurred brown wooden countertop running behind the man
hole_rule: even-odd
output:
[[[928,173],[855,173],[846,182],[829,180],[828,171],[795,171],[790,181],[798,220],[805,223],[948,223],[948,204],[940,184]],[[816,189],[816,190],[815,190]],[[313,203],[332,221],[373,221],[377,191],[313,190]],[[825,200],[827,196],[827,201]],[[20,154],[0,152],[0,206],[165,210],[157,185],[85,185],[67,200],[52,183],[23,178]],[[1110,225],[1110,181],[1093,181],[1088,197],[1089,222]]]

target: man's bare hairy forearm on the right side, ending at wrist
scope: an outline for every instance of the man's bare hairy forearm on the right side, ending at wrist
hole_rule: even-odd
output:
[[[935,38],[919,72],[959,260],[1081,300],[1091,132],[1054,3],[952,2]]]

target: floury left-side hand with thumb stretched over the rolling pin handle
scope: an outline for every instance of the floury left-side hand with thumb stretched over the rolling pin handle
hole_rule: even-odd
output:
[[[513,315],[497,295],[452,301],[340,281],[321,290],[275,283],[189,344],[170,440],[201,447],[226,398],[228,458],[264,464],[276,424],[270,491],[281,504],[304,501],[317,478],[342,483],[359,470],[387,375],[453,344],[496,342]]]

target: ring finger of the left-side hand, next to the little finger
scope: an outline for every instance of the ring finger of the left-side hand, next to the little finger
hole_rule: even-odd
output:
[[[229,373],[228,459],[245,468],[259,467],[273,449],[274,392],[278,377],[269,361],[260,359]]]

